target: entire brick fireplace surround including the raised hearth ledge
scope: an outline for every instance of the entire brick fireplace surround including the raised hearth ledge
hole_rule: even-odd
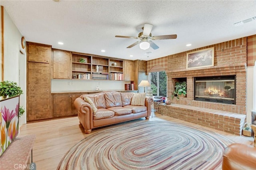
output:
[[[187,96],[172,99],[171,105],[161,104],[159,111],[234,135],[242,135],[246,119],[246,37],[210,45],[193,51],[214,47],[214,66],[186,69],[186,51],[168,56],[168,96],[174,91],[177,80],[186,80]],[[219,104],[194,100],[194,77],[236,75],[236,104]],[[171,98],[170,98],[171,99]]]

